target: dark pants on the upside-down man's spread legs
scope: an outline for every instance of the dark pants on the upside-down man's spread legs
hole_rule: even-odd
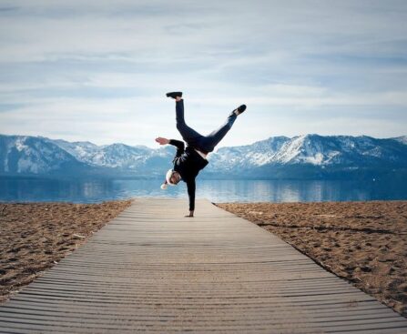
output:
[[[185,123],[184,100],[176,102],[176,120],[179,133],[184,141],[187,142],[188,146],[197,148],[204,153],[213,151],[213,149],[219,144],[219,141],[228,133],[237,117],[238,116],[232,111],[221,127],[212,131],[208,136],[202,136],[193,128],[188,127]]]

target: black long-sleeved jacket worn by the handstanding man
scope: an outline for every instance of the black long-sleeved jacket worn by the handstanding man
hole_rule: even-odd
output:
[[[179,173],[182,180],[187,183],[189,210],[195,209],[195,177],[198,176],[199,170],[206,167],[209,162],[201,157],[193,147],[184,149],[184,142],[170,139],[169,144],[177,147],[177,153],[172,160],[174,170]]]

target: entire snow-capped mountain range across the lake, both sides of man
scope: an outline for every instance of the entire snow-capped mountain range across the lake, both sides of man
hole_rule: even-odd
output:
[[[175,147],[68,142],[46,137],[0,135],[0,173],[162,177]],[[407,169],[407,137],[305,135],[270,137],[209,155],[202,177],[323,178]],[[360,172],[358,172],[360,175]]]

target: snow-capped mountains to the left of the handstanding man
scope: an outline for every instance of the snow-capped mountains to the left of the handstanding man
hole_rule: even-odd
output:
[[[171,147],[151,149],[119,143],[97,146],[46,137],[0,135],[1,174],[155,177],[171,167],[173,155]]]

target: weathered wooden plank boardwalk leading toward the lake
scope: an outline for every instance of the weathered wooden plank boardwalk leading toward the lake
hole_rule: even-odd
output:
[[[249,221],[137,198],[0,306],[2,333],[407,333],[407,319]]]

